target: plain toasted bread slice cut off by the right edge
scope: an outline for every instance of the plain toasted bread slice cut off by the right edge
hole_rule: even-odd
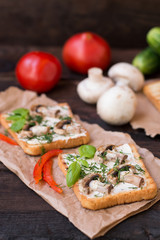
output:
[[[157,110],[160,111],[160,80],[146,84],[143,92]]]

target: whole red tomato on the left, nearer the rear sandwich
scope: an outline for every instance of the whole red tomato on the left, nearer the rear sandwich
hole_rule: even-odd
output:
[[[38,93],[51,90],[61,77],[59,60],[45,52],[30,52],[17,63],[16,76],[23,88]]]

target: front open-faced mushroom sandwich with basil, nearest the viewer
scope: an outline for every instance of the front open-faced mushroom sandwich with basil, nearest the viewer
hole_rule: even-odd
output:
[[[134,144],[83,145],[58,164],[82,206],[96,210],[156,196],[157,186]]]

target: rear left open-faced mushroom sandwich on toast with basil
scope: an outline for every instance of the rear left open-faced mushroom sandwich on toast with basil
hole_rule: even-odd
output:
[[[0,122],[30,155],[39,155],[44,149],[72,148],[89,141],[88,132],[75,120],[67,103],[18,108],[1,114]]]

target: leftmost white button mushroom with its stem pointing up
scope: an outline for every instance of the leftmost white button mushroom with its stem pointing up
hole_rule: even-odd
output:
[[[114,84],[111,79],[104,77],[100,68],[90,68],[88,78],[81,81],[77,86],[80,98],[87,103],[96,103],[103,92]]]

